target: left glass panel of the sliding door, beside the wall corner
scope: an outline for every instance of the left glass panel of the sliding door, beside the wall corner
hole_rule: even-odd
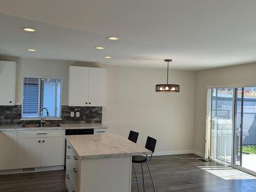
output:
[[[233,89],[212,89],[210,157],[231,163]]]

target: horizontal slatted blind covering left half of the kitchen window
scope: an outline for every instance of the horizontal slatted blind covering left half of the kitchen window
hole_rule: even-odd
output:
[[[39,79],[25,77],[23,79],[22,118],[38,117],[38,95]]]

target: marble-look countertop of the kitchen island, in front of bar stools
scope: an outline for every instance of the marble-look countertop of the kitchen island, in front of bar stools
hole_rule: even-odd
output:
[[[70,135],[66,136],[79,159],[99,159],[151,155],[151,151],[118,135]]]

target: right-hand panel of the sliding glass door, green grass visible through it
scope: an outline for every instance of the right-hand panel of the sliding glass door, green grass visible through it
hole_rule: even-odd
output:
[[[256,172],[256,87],[236,89],[234,164]]]

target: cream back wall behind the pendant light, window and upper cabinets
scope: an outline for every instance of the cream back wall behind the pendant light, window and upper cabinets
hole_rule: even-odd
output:
[[[130,130],[156,138],[156,152],[191,153],[194,130],[195,72],[174,70],[172,82],[180,84],[180,93],[156,93],[155,85],[165,83],[166,70],[120,66],[103,66],[64,60],[31,59],[0,56],[0,60],[17,62],[17,104],[21,104],[21,75],[40,74],[62,78],[62,104],[67,104],[70,65],[108,69],[106,107],[102,122],[109,133],[127,137]]]

